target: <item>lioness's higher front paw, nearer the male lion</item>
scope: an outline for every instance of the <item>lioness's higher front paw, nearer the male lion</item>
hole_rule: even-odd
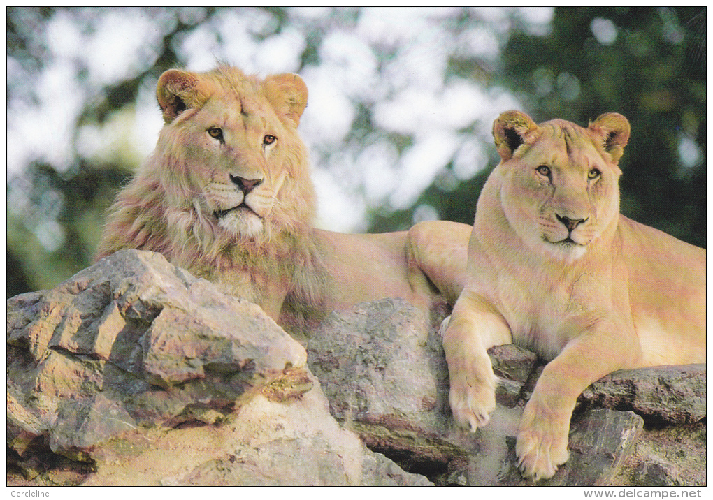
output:
[[[456,423],[461,427],[475,431],[490,420],[495,410],[496,377],[492,370],[480,377],[466,374],[451,378],[451,392],[448,396],[451,411]]]

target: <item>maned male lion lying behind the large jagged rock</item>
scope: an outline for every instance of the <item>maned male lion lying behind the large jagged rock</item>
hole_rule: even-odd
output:
[[[259,304],[293,333],[304,321],[378,298],[404,298],[426,311],[440,296],[455,302],[469,226],[422,224],[412,236],[314,229],[314,187],[296,130],[307,87],[298,75],[170,70],[157,98],[165,126],[118,194],[98,259],[120,249],[160,252]],[[430,246],[417,249],[416,241]],[[443,252],[452,248],[460,260],[447,264]]]

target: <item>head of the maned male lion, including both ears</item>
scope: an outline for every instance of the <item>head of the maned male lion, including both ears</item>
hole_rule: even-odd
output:
[[[272,80],[270,80],[272,78]],[[164,184],[214,232],[259,239],[309,222],[314,211],[304,145],[295,128],[307,102],[296,75],[267,80],[237,70],[169,71],[159,81]]]

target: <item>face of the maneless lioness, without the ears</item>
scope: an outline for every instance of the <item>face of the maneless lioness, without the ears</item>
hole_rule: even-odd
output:
[[[573,260],[618,214],[620,170],[585,129],[565,124],[544,124],[499,168],[515,232],[535,251]]]

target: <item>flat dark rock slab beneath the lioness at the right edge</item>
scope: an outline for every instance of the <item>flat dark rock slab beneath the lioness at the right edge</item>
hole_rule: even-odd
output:
[[[706,365],[619,370],[594,382],[580,401],[633,410],[652,423],[698,422],[706,416]]]

